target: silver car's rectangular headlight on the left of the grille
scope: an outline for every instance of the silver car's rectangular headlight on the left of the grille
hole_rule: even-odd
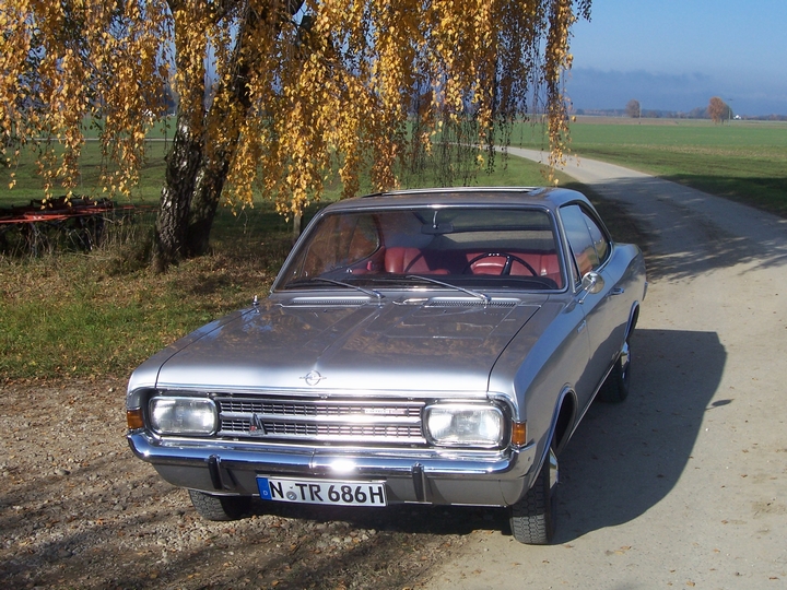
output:
[[[163,435],[212,435],[219,422],[208,398],[153,398],[149,416],[153,432]]]

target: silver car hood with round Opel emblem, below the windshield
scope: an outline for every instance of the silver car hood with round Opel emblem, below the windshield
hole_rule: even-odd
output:
[[[163,351],[156,386],[482,392],[545,299],[267,300]]]

